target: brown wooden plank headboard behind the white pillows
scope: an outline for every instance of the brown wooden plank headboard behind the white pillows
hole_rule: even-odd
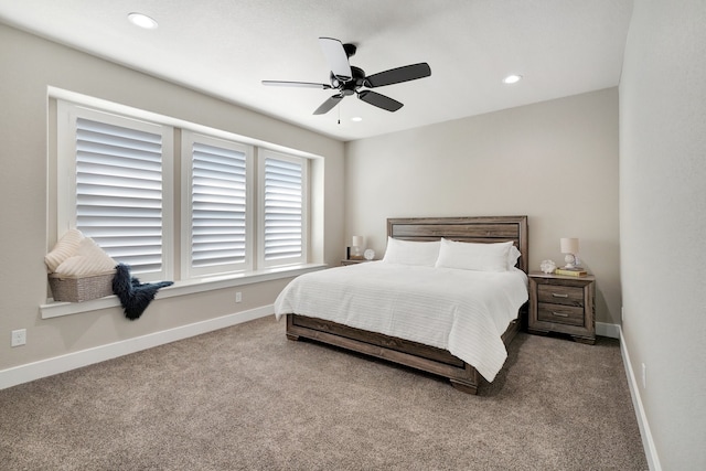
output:
[[[527,216],[388,218],[387,235],[404,240],[441,237],[484,244],[512,240],[522,254],[517,268],[524,272],[528,269]]]

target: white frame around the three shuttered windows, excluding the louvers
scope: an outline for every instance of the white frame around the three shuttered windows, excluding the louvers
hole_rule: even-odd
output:
[[[277,144],[246,138],[233,132],[205,127],[199,124],[189,122],[182,119],[141,110],[138,108],[119,105],[98,98],[92,98],[57,88],[50,89],[50,115],[55,116],[50,124],[50,135],[55,137],[55,149],[50,149],[50,169],[55,171],[56,176],[49,183],[47,194],[47,221],[52,223],[56,232],[50,231],[47,234],[47,249],[68,228],[76,226],[76,199],[75,199],[75,114],[85,114],[87,119],[116,122],[117,126],[131,127],[135,124],[145,125],[164,132],[162,139],[162,270],[159,275],[139,275],[141,281],[156,281],[170,279],[183,286],[208,286],[213,280],[242,279],[243,277],[260,277],[266,272],[286,272],[301,267],[310,266],[311,250],[309,247],[312,234],[310,223],[311,199],[310,172],[312,159],[318,156],[307,154],[307,152],[295,149],[286,149]],[[72,124],[73,120],[73,124]],[[73,131],[72,131],[73,129]],[[186,185],[184,174],[188,173],[189,165],[184,165],[184,135],[197,135],[206,139],[215,139],[220,142],[229,142],[235,146],[249,148],[248,162],[253,171],[248,172],[248,201],[250,211],[248,214],[247,236],[250,240],[248,246],[247,266],[238,270],[215,270],[214,272],[197,272],[184,265],[190,259],[190,249],[184,248],[185,238],[190,234],[190,216],[184,217],[185,207],[190,204],[189,197],[184,196]],[[73,144],[72,144],[73,140]],[[265,162],[265,156],[275,156],[278,159],[295,159],[302,164],[302,255],[296,260],[286,263],[265,263],[264,260],[264,217],[260,217],[261,193],[264,192],[264,169],[260,170],[260,162]],[[189,156],[191,158],[191,156]],[[263,163],[264,168],[264,163]],[[73,176],[72,176],[73,175]],[[188,186],[191,188],[191,183]],[[189,190],[189,193],[191,191]],[[52,199],[56,197],[54,202]],[[186,202],[186,204],[185,204]],[[189,208],[189,214],[191,210]],[[184,228],[186,227],[186,229]],[[118,260],[119,261],[119,260]],[[196,283],[196,285],[194,285]],[[175,289],[171,288],[171,289]]]

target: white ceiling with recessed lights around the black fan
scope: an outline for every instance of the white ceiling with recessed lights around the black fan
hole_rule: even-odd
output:
[[[141,30],[133,11],[159,22]],[[618,85],[632,0],[0,0],[0,22],[341,139],[353,140]],[[389,113],[332,90],[318,38],[357,45],[367,75],[427,62],[375,88]],[[511,73],[518,84],[503,85]],[[361,122],[351,118],[360,116]],[[340,119],[340,124],[339,124]]]

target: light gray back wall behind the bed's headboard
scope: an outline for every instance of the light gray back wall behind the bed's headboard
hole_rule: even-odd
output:
[[[345,185],[346,238],[381,256],[387,217],[527,215],[533,270],[579,237],[620,323],[617,88],[349,142]]]

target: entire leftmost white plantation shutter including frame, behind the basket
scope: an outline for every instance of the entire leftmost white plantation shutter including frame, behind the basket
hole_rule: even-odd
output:
[[[171,130],[160,125],[62,104],[66,138],[60,147],[60,200],[68,201],[60,226],[76,227],[140,279],[167,279],[171,200],[165,202],[164,150]],[[165,142],[167,141],[167,142]],[[168,159],[167,167],[171,169]],[[63,190],[72,188],[65,194]],[[60,232],[61,235],[61,232]]]

